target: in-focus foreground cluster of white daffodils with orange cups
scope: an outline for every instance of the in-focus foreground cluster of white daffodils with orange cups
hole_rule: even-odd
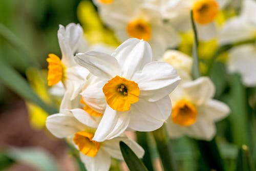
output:
[[[168,94],[180,82],[176,70],[152,61],[150,45],[137,38],[127,39],[112,54],[75,54],[86,46],[79,25],[60,26],[58,39],[62,57],[49,54],[48,84],[61,81],[65,93],[59,113],[47,118],[48,130],[69,139],[89,170],[108,170],[110,156],[122,159],[119,141],[141,158],[143,149],[124,131],[154,131],[163,125],[172,111]]]

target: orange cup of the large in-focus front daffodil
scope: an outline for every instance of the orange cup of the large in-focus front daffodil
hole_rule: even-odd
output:
[[[102,90],[106,102],[116,111],[128,111],[131,104],[139,101],[138,84],[119,76],[109,80]]]

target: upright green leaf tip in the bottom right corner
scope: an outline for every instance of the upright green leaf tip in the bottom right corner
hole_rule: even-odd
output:
[[[236,170],[255,170],[253,167],[253,162],[249,153],[249,149],[246,145],[242,145],[240,148],[238,158],[237,158],[237,169]]]

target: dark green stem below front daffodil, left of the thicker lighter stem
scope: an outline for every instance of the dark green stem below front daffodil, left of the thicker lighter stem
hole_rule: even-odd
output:
[[[147,133],[146,132],[136,132],[137,136],[137,142],[140,144],[140,146],[144,149],[145,154],[143,156],[143,163],[145,164],[146,168],[148,171],[153,171],[153,164],[152,164],[152,156],[150,153],[150,146],[148,146],[148,138],[147,138]]]

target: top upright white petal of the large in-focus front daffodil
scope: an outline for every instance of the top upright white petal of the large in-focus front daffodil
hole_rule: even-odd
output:
[[[152,61],[150,45],[143,40],[130,38],[124,41],[112,54],[122,68],[122,76],[130,79],[136,71]]]

